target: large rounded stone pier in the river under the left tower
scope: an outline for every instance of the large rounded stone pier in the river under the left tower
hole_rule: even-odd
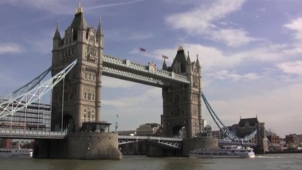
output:
[[[35,140],[39,159],[122,159],[118,135],[112,132],[69,132],[66,140]]]

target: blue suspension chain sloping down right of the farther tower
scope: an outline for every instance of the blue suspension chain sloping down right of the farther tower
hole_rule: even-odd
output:
[[[233,132],[231,132],[231,130],[228,130],[228,128],[226,128],[226,126],[223,125],[221,120],[218,118],[216,113],[213,111],[213,109],[209,105],[209,102],[207,101],[207,98],[204,96],[203,93],[202,93],[202,99],[204,100],[204,103],[207,106],[207,110],[209,111],[209,113],[210,113],[211,117],[213,118],[214,122],[216,123],[216,125],[219,127],[219,129],[224,134],[227,135],[227,137],[224,138],[223,140],[231,140],[231,141],[235,141],[235,142],[250,142],[252,137],[254,137],[257,134],[257,129],[256,129],[254,132],[252,132],[247,137],[244,137],[244,138],[237,137]]]

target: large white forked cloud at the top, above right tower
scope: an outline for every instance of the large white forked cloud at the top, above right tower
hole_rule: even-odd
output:
[[[212,4],[199,5],[183,13],[176,13],[165,18],[174,29],[185,30],[190,35],[205,35],[211,40],[221,41],[231,47],[248,44],[257,40],[248,36],[248,32],[238,28],[219,28],[222,18],[238,11],[245,1],[214,1]]]

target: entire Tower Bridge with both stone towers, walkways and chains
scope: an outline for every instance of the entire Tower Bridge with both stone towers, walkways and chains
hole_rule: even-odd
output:
[[[189,52],[186,53],[180,46],[173,63],[168,66],[163,60],[162,68],[158,69],[153,62],[142,65],[104,55],[103,42],[101,20],[97,29],[88,27],[81,6],[76,10],[74,20],[65,30],[64,36],[60,34],[58,23],[52,44],[51,69],[47,69],[39,77],[0,101],[0,118],[3,118],[22,109],[26,110],[30,103],[40,100],[47,91],[51,91],[51,132],[47,134],[30,133],[27,130],[0,130],[0,137],[35,138],[34,157],[37,158],[121,159],[122,154],[117,147],[119,143],[151,139],[163,145],[181,147],[182,154],[187,154],[190,149],[197,147],[218,147],[217,139],[196,137],[200,136],[204,126],[202,99],[216,124],[228,135],[228,140],[243,143],[259,134],[256,128],[248,137],[236,137],[219,120],[202,93],[202,70],[198,55],[196,60],[191,62]],[[40,84],[47,72],[51,72],[52,78]],[[103,132],[104,125],[108,123],[102,121],[102,76],[161,88],[165,138],[129,139],[118,137],[116,133],[109,132],[109,129],[108,132]],[[95,130],[83,132],[83,123],[94,123],[87,128]],[[186,139],[171,138],[178,135],[182,128],[185,128]],[[57,139],[54,140],[55,137]]]

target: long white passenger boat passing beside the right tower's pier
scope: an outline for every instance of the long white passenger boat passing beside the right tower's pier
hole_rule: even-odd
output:
[[[255,157],[254,149],[236,145],[223,146],[222,149],[195,149],[189,153],[194,158],[251,158]]]

